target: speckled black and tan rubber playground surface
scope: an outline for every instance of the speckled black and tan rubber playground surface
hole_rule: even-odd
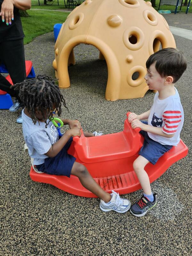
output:
[[[165,14],[172,27],[192,30],[192,15]],[[176,88],[185,114],[181,139],[188,156],[173,164],[152,183],[158,193],[157,205],[144,217],[130,212],[102,212],[99,199],[68,194],[49,184],[30,179],[30,158],[24,154],[22,126],[16,124],[20,112],[0,110],[1,243],[0,255],[191,255],[191,95],[192,41],[175,36],[177,48],[188,68]],[[126,112],[147,111],[154,93],[131,100],[105,100],[108,69],[98,60],[92,45],[75,47],[76,65],[70,66],[71,87],[61,90],[69,112],[62,117],[80,120],[84,131],[105,134],[123,130]],[[25,45],[26,60],[38,74],[54,76],[53,32]],[[64,131],[64,130],[63,130]],[[123,195],[134,203],[141,190]]]

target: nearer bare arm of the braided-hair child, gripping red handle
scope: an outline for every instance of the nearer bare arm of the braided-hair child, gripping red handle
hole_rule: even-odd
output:
[[[49,149],[49,151],[45,154],[46,156],[49,156],[49,157],[54,157],[56,156],[60,151],[61,149],[65,146],[65,144],[68,142],[68,140],[71,138],[71,137],[74,137],[74,136],[81,136],[81,130],[78,129],[78,128],[73,128],[73,129],[70,129],[70,130],[67,130],[63,136],[60,138],[60,140],[58,140],[56,143],[54,143],[51,148]]]

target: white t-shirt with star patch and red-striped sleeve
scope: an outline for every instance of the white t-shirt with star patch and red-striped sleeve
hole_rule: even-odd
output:
[[[180,132],[183,122],[184,113],[177,89],[175,88],[175,95],[169,96],[164,100],[159,100],[159,93],[156,92],[148,117],[148,124],[155,127],[162,127],[164,133],[174,134],[174,136],[172,138],[166,138],[150,132],[148,132],[148,136],[162,145],[176,146],[180,142]]]

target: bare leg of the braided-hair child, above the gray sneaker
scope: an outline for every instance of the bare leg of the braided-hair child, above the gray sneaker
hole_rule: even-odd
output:
[[[87,171],[86,167],[83,164],[75,162],[73,164],[71,174],[77,176],[81,184],[91,191],[93,194],[98,196],[105,203],[108,203],[111,200],[111,195],[105,192],[92,178],[90,173]]]

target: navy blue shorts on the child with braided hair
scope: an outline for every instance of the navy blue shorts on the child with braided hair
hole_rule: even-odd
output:
[[[57,154],[57,156],[47,157],[45,158],[45,162],[43,164],[36,165],[38,171],[70,177],[71,169],[76,160],[74,156],[71,156],[67,153],[67,150],[71,146],[72,141],[73,138],[70,138],[65,146],[61,149],[61,151]]]

